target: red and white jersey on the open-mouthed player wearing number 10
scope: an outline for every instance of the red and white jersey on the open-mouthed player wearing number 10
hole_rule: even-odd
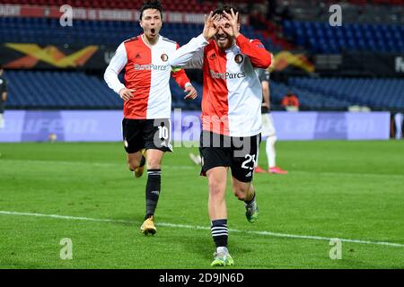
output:
[[[179,48],[170,39],[159,36],[152,47],[145,44],[143,35],[127,39],[119,45],[104,74],[105,82],[119,93],[123,88],[136,90],[134,97],[124,102],[124,117],[135,119],[170,118],[171,65],[168,59]],[[125,84],[118,74],[125,68]],[[172,72],[182,89],[189,83],[183,70]]]

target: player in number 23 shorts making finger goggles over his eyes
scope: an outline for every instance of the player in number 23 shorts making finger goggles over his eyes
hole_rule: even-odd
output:
[[[257,39],[240,33],[240,16],[228,5],[206,17],[203,33],[171,57],[174,67],[202,68],[202,132],[199,152],[208,181],[208,213],[216,251],[212,266],[233,265],[227,248],[227,170],[233,193],[244,202],[249,222],[258,219],[251,181],[259,152],[262,91],[256,68],[271,57]]]

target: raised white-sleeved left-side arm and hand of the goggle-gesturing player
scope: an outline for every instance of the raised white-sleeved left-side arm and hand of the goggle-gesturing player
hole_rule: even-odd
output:
[[[172,67],[202,68],[204,58],[204,48],[209,44],[209,39],[215,36],[217,27],[215,25],[216,16],[205,15],[204,31],[197,38],[193,38],[188,44],[177,49],[170,60]]]

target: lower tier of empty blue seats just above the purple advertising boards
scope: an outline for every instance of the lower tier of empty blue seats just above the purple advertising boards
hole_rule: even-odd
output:
[[[7,107],[18,109],[122,109],[122,100],[101,77],[79,72],[6,71],[10,97]],[[197,100],[183,100],[184,91],[172,79],[172,107],[200,109],[202,85],[192,82]],[[287,84],[271,82],[274,107],[288,91],[299,97],[303,109],[346,110],[361,105],[373,109],[404,109],[404,81],[294,77]]]

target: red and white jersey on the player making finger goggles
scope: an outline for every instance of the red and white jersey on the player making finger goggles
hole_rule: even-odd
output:
[[[203,69],[203,130],[230,136],[260,133],[262,90],[255,69],[268,68],[271,57],[259,40],[240,35],[232,48],[222,51],[215,40],[199,35],[169,62]]]

